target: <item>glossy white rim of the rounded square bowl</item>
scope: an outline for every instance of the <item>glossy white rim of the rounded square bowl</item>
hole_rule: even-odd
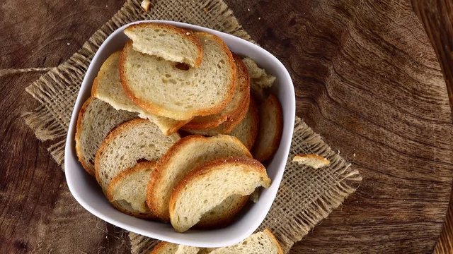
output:
[[[212,243],[212,241],[203,241],[203,239],[196,239],[196,241],[188,241],[187,239],[180,239],[180,238],[174,238],[171,236],[163,236],[162,234],[150,232],[150,231],[144,231],[141,229],[137,229],[135,226],[119,222],[117,219],[114,217],[104,215],[101,212],[99,212],[95,207],[91,207],[88,202],[86,202],[85,198],[82,197],[81,193],[76,190],[76,183],[72,181],[71,179],[71,171],[74,170],[79,170],[79,169],[74,169],[69,165],[69,160],[73,160],[73,158],[69,157],[69,155],[74,155],[74,150],[71,149],[71,146],[73,145],[74,142],[74,135],[75,135],[75,130],[76,130],[76,121],[77,117],[79,114],[79,110],[81,108],[81,104],[83,104],[83,97],[84,97],[84,91],[88,90],[92,84],[91,81],[88,80],[88,73],[91,73],[93,71],[98,71],[98,69],[95,69],[96,66],[94,66],[92,63],[95,63],[98,61],[98,58],[101,57],[101,52],[105,50],[108,44],[113,42],[114,38],[119,34],[122,33],[125,28],[127,28],[130,25],[137,24],[137,23],[166,23],[170,25],[175,25],[180,28],[187,28],[190,30],[200,30],[200,31],[205,31],[205,32],[210,32],[214,35],[217,35],[222,38],[222,40],[231,40],[231,41],[239,41],[239,43],[245,43],[248,44],[248,47],[253,47],[256,49],[260,54],[264,54],[266,58],[271,59],[274,63],[277,63],[277,66],[279,69],[281,69],[282,75],[285,75],[285,80],[288,81],[287,87],[289,87],[289,90],[287,90],[289,100],[285,102],[285,104],[289,104],[286,107],[287,112],[283,112],[283,119],[284,119],[284,126],[283,126],[283,131],[282,131],[282,139],[280,140],[279,148],[283,149],[283,155],[286,156],[286,159],[281,159],[280,162],[277,164],[276,167],[277,169],[277,174],[275,174],[275,177],[273,179],[273,184],[268,188],[268,191],[272,191],[272,199],[268,202],[266,202],[263,206],[264,209],[260,211],[259,218],[255,219],[253,222],[251,222],[251,226],[248,227],[248,229],[244,230],[241,232],[241,234],[237,234],[236,236],[231,236],[229,238],[222,238],[220,239],[219,243]],[[100,68],[100,66],[98,66]],[[90,83],[90,84],[88,84]],[[68,128],[68,133],[67,133],[67,139],[65,141],[65,149],[64,149],[64,168],[65,168],[65,176],[67,180],[67,185],[69,187],[69,191],[71,192],[71,195],[76,199],[79,204],[84,207],[85,210],[90,212],[91,214],[95,215],[96,217],[102,219],[105,222],[108,222],[110,224],[114,224],[115,226],[119,226],[122,229],[126,229],[127,231],[132,231],[136,234],[140,234],[143,236],[151,237],[151,238],[156,238],[161,241],[168,241],[172,243],[179,243],[179,244],[185,244],[185,245],[192,245],[192,246],[199,246],[199,247],[205,247],[205,248],[216,248],[216,247],[222,247],[222,246],[229,246],[235,243],[238,243],[239,241],[242,241],[244,238],[250,236],[253,234],[254,231],[260,226],[260,224],[263,222],[265,219],[266,215],[268,214],[270,207],[273,205],[273,202],[275,200],[275,196],[277,195],[278,188],[280,187],[280,183],[282,181],[282,176],[285,171],[285,166],[287,163],[287,157],[289,157],[289,148],[292,143],[292,135],[294,131],[294,119],[295,119],[295,111],[296,111],[296,102],[295,102],[295,92],[294,92],[294,85],[292,83],[291,76],[289,75],[287,68],[273,55],[270,54],[267,50],[263,49],[262,47],[259,47],[257,44],[253,44],[252,42],[248,42],[247,40],[243,40],[242,38],[236,37],[234,35],[227,34],[225,32],[220,32],[217,30],[213,30],[210,28],[204,28],[199,25],[193,25],[189,23],[181,23],[177,21],[171,21],[171,20],[139,20],[135,21],[132,23],[127,23],[125,25],[122,25],[120,28],[117,28],[115,31],[113,31],[101,44],[101,46],[98,48],[96,53],[93,56],[93,59],[91,59],[90,64],[88,65],[88,68],[86,70],[86,73],[84,75],[84,79],[81,83],[81,87],[79,90],[79,94],[77,95],[76,102],[74,103],[74,109],[71,114],[71,121],[69,123],[69,128]],[[286,113],[286,114],[285,114]],[[289,115],[289,119],[285,121],[285,116]],[[289,140],[287,140],[289,139]],[[283,143],[283,140],[286,140],[285,143]],[[277,152],[278,152],[277,150]],[[76,156],[75,156],[76,158]],[[77,161],[78,162],[78,161]],[[83,169],[80,167],[80,169]],[[74,176],[75,177],[75,176]],[[275,184],[274,184],[275,183]],[[258,201],[259,202],[259,201]],[[114,208],[113,208],[114,209]],[[236,223],[236,222],[234,222]],[[233,224],[234,224],[233,223]],[[210,230],[207,230],[210,231]],[[186,234],[186,233],[185,233]]]

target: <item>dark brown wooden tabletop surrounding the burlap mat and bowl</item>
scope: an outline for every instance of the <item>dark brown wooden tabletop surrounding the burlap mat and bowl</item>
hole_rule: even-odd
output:
[[[226,2],[252,38],[291,72],[297,115],[364,176],[357,193],[292,253],[431,253],[449,206],[453,124],[439,62],[411,4]],[[0,69],[57,66],[120,6],[113,0],[4,1]],[[452,45],[452,37],[447,42]],[[40,74],[0,76],[2,253],[40,252],[42,227],[67,193],[63,172],[20,118],[37,105],[24,89]],[[445,248],[451,248],[451,214],[439,241]],[[83,226],[75,215],[62,224]],[[74,251],[129,250],[127,235],[114,226],[86,230],[91,235],[83,236],[83,246],[71,246]],[[46,241],[62,239],[71,245],[64,237]]]

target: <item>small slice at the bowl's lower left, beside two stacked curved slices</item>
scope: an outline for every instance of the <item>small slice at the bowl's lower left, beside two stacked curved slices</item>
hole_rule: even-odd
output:
[[[108,184],[108,201],[125,214],[153,218],[147,206],[147,185],[155,166],[156,162],[138,162],[134,167],[121,171]]]

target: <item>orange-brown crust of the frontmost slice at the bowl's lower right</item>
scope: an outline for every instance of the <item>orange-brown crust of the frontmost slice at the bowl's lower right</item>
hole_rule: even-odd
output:
[[[211,162],[206,162],[204,164],[201,164],[196,169],[193,169],[192,171],[190,171],[184,177],[184,179],[182,179],[173,188],[173,192],[171,193],[171,196],[170,196],[170,202],[168,203],[170,214],[172,214],[173,211],[175,210],[176,201],[178,200],[180,194],[183,192],[183,189],[185,188],[185,186],[187,186],[189,183],[195,181],[195,179],[197,179],[199,176],[203,176],[216,169],[217,170],[223,169],[223,168],[221,168],[222,166],[225,166],[226,164],[233,164],[233,163],[241,163],[241,164],[246,164],[246,165],[250,166],[247,169],[245,169],[246,171],[251,171],[251,170],[258,171],[258,173],[260,173],[263,177],[264,183],[262,186],[264,188],[269,188],[271,180],[270,180],[263,164],[258,162],[256,159],[251,159],[248,157],[227,157],[227,158],[223,158],[223,159],[214,159]],[[178,231],[178,229],[175,229],[175,230]]]

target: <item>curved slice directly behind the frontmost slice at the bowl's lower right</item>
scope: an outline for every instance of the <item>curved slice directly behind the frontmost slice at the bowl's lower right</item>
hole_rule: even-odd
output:
[[[241,141],[229,135],[181,138],[157,162],[156,174],[148,185],[149,209],[160,219],[168,221],[168,201],[174,186],[200,164],[229,156],[251,158],[251,153]]]

